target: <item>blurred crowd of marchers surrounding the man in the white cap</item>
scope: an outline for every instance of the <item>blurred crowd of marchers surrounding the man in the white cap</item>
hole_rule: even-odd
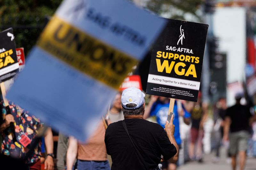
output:
[[[244,169],[246,157],[256,156],[256,116],[253,105],[247,105],[243,99],[243,93],[235,95],[236,104],[227,107],[226,99],[220,98],[213,106],[203,103],[201,93],[199,92],[197,102],[185,100],[175,100],[173,107],[175,125],[174,137],[179,147],[179,160],[176,164],[168,161],[162,162],[164,170],[175,170],[189,161],[197,161],[199,164],[204,162],[204,154],[215,152],[212,158],[213,163],[220,161],[220,148],[226,148],[227,162],[233,169],[236,168],[236,157],[238,156],[240,169]],[[150,122],[156,122],[163,128],[168,117],[170,98],[150,96],[145,97],[146,107],[144,119]],[[3,104],[2,104],[3,105]],[[1,152],[7,156],[22,157],[17,155],[17,148],[21,153],[26,153],[25,147],[19,146],[10,136],[8,129],[14,122],[15,132],[24,127],[17,126],[16,118],[19,118],[22,125],[26,122],[25,135],[38,134],[37,129],[41,123],[29,112],[19,108],[14,103],[10,104],[13,116],[3,113],[3,120],[6,127],[2,127],[2,149]],[[2,106],[4,108],[4,106]],[[16,115],[20,115],[16,116]],[[124,120],[121,107],[121,93],[116,94],[114,101],[109,105],[106,115],[102,116],[97,128],[86,140],[86,142],[77,141],[74,137],[68,137],[61,132],[49,132],[37,141],[32,157],[26,157],[30,169],[110,169],[111,157],[107,155],[104,142],[105,131],[112,122]],[[31,126],[31,127],[30,127]],[[32,129],[34,128],[34,129]],[[8,135],[9,134],[9,135]],[[17,137],[22,137],[22,134]],[[46,146],[46,148],[44,148]],[[40,148],[40,149],[39,149]],[[28,153],[28,152],[27,152]],[[2,159],[4,160],[4,159]],[[41,166],[40,166],[41,164]]]

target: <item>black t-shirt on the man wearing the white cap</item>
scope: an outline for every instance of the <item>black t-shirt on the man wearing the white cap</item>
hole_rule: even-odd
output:
[[[157,123],[144,119],[125,119],[128,132],[137,145],[149,169],[156,168],[161,160],[172,158],[176,147],[171,144],[164,129]],[[107,153],[111,155],[111,170],[142,170],[143,163],[137,156],[131,140],[126,133],[122,121],[111,123],[105,134]]]

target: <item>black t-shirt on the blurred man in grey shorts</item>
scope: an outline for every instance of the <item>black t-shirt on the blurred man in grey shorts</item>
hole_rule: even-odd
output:
[[[249,130],[249,118],[252,116],[249,107],[236,104],[227,109],[226,116],[231,119],[230,132]]]

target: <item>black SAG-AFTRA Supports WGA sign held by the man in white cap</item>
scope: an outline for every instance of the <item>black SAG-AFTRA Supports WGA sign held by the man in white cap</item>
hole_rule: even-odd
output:
[[[153,46],[146,93],[197,101],[208,25],[167,20]]]

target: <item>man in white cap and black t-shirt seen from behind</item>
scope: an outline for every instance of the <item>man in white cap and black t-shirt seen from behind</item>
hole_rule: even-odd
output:
[[[166,121],[166,131],[157,123],[144,120],[144,97],[145,94],[134,87],[122,93],[121,104],[125,119],[111,123],[105,134],[107,153],[112,158],[111,170],[153,169],[160,163],[161,155],[171,163],[178,160],[173,115],[170,123]]]

